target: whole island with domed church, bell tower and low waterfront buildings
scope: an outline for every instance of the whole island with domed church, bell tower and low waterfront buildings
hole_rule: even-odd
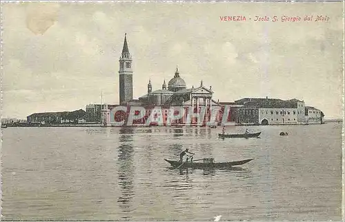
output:
[[[322,124],[324,113],[292,98],[242,98],[220,102],[200,80],[187,87],[178,67],[159,89],[148,79],[147,93],[133,98],[133,65],[125,34],[119,58],[119,104],[87,104],[85,111],[32,113],[14,126],[184,126],[209,124]],[[102,102],[103,103],[103,102]],[[201,115],[202,113],[202,115]],[[10,125],[10,123],[6,123]]]

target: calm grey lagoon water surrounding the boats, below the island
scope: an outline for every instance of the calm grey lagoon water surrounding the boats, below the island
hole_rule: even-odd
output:
[[[341,220],[342,124],[205,128],[8,128],[5,220]],[[229,133],[243,133],[228,126]],[[279,136],[279,132],[288,136]],[[242,170],[171,170],[195,159],[255,158]]]

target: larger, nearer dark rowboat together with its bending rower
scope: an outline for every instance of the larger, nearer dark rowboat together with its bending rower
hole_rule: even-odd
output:
[[[191,154],[191,155],[188,155]],[[186,160],[184,161],[184,156],[187,155]],[[213,168],[213,169],[222,169],[222,168],[233,168],[234,166],[240,166],[246,164],[253,159],[244,159],[239,161],[233,162],[215,162],[214,158],[202,158],[202,159],[195,159],[193,160],[195,153],[190,153],[188,148],[185,151],[180,153],[180,159],[178,160],[170,160],[164,159],[168,162],[173,168],[193,168],[193,169],[205,169],[205,168]]]

